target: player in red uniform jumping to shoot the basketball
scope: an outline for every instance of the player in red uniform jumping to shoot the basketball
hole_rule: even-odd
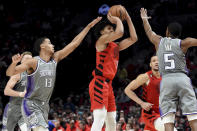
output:
[[[126,10],[125,10],[126,11]],[[137,41],[135,28],[127,12],[126,21],[130,37],[119,43],[113,41],[121,38],[124,28],[121,20],[108,13],[108,21],[101,21],[96,27],[96,68],[93,79],[89,84],[91,111],[93,111],[93,125],[91,131],[101,131],[104,122],[106,131],[116,131],[116,104],[112,88],[112,80],[116,74],[119,51],[127,49]],[[114,30],[113,25],[116,25]]]

